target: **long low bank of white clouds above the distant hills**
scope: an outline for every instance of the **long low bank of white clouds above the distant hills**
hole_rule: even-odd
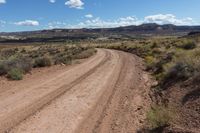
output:
[[[85,16],[86,17],[86,16]],[[190,17],[178,19],[172,14],[158,14],[146,16],[138,19],[135,16],[121,17],[115,20],[103,20],[101,18],[90,18],[77,24],[67,22],[52,22],[49,28],[112,28],[129,25],[140,25],[143,23],[175,24],[175,25],[195,25],[199,24]]]

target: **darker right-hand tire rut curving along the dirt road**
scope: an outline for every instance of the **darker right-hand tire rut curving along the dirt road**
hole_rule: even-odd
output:
[[[119,52],[118,52],[119,54]],[[80,127],[77,129],[77,133],[97,133],[99,132],[99,127],[107,115],[106,110],[111,104],[111,100],[113,99],[117,87],[123,81],[124,76],[127,74],[127,61],[126,57],[123,54],[120,54],[120,65],[118,71],[116,71],[115,76],[117,78],[113,79],[113,84],[110,85],[110,89],[105,91],[104,94],[99,99],[98,104],[94,107],[94,110],[90,112],[88,118],[80,124]],[[103,99],[103,100],[102,100]]]

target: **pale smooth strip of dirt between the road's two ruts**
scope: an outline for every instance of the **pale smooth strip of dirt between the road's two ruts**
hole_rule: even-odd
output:
[[[114,52],[111,58],[101,67],[77,83],[67,93],[45,106],[36,115],[29,117],[19,126],[15,127],[13,133],[65,133],[73,132],[78,123],[85,119],[90,108],[96,103],[97,98],[106,89],[108,79],[115,71],[113,67],[118,64],[118,55]],[[105,68],[107,68],[105,70]],[[56,107],[56,108],[55,108]]]

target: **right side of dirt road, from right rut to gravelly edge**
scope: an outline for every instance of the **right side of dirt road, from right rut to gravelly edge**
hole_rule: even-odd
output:
[[[118,52],[121,69],[110,90],[105,91],[77,133],[133,133],[142,125],[148,108],[148,89],[140,61],[131,54]],[[117,71],[116,71],[117,72]],[[150,88],[150,86],[149,86]],[[144,107],[143,107],[144,106]]]

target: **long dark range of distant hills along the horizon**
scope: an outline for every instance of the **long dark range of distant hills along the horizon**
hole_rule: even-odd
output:
[[[0,42],[65,42],[66,40],[86,39],[122,39],[149,36],[184,36],[190,32],[199,32],[200,26],[158,25],[155,23],[139,26],[126,26],[100,29],[52,29],[40,31],[25,31],[0,33]]]

